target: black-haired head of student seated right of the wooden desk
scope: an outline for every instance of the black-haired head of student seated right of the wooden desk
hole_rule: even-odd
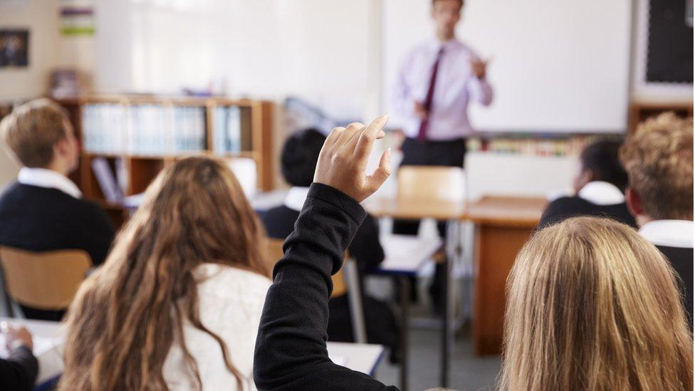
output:
[[[625,191],[627,172],[618,158],[620,145],[622,142],[617,140],[598,140],[584,148],[579,158],[580,170],[574,180],[575,192],[594,181],[615,184],[615,187]]]

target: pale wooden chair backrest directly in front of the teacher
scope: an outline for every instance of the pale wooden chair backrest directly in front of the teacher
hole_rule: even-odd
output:
[[[461,167],[404,166],[398,170],[398,198],[462,202],[466,175]]]

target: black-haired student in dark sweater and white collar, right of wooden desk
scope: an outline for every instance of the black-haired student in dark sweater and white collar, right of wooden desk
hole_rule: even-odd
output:
[[[609,217],[637,226],[627,210],[627,173],[618,159],[621,142],[600,140],[582,151],[574,179],[575,195],[555,199],[540,218],[539,228],[573,216]]]

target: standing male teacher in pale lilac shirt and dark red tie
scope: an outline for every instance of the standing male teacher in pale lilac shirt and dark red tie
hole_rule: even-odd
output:
[[[492,87],[486,80],[487,61],[455,36],[463,0],[433,0],[436,38],[415,47],[400,69],[393,91],[393,112],[402,123],[404,165],[464,166],[466,137],[474,133],[469,103],[489,105]],[[440,223],[440,236],[446,226]],[[394,221],[395,234],[417,234],[419,221]],[[443,264],[429,291],[441,312]],[[415,293],[412,290],[412,300]]]

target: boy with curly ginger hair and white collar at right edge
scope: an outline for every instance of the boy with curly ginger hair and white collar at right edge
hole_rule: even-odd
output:
[[[693,119],[673,113],[643,122],[620,150],[627,203],[639,233],[662,251],[681,281],[693,322]]]

